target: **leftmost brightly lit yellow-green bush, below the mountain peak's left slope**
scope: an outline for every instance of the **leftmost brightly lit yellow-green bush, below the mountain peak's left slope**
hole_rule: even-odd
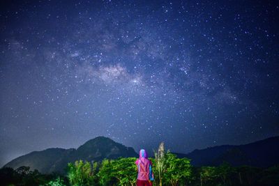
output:
[[[68,163],[68,179],[73,186],[95,185],[91,164],[82,160]]]

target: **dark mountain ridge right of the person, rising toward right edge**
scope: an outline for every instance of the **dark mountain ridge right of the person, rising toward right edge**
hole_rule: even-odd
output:
[[[228,162],[232,166],[269,167],[279,164],[279,137],[271,137],[246,145],[196,149],[188,154],[176,153],[176,155],[190,158],[193,166],[218,166],[223,162]]]

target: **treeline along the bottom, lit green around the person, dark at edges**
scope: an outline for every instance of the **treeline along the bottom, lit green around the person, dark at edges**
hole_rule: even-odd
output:
[[[15,170],[6,167],[0,169],[0,185],[135,185],[136,159],[120,157],[102,162],[77,160],[68,163],[66,176],[41,174],[37,170],[31,171],[27,166]],[[220,166],[193,167],[188,158],[177,158],[169,151],[165,153],[163,144],[160,144],[155,157],[149,159],[153,164],[153,185],[279,185],[279,166],[268,169],[233,167],[224,162]]]

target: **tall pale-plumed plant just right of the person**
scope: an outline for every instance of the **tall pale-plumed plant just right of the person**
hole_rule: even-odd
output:
[[[154,152],[156,167],[155,171],[158,173],[159,185],[162,186],[163,173],[165,171],[165,148],[164,143],[162,142],[158,148],[158,152]]]

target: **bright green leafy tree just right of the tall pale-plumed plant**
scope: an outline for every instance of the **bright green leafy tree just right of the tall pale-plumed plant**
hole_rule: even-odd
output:
[[[166,172],[165,179],[168,183],[175,186],[179,180],[186,180],[191,176],[190,160],[187,158],[177,158],[176,155],[165,154]]]

